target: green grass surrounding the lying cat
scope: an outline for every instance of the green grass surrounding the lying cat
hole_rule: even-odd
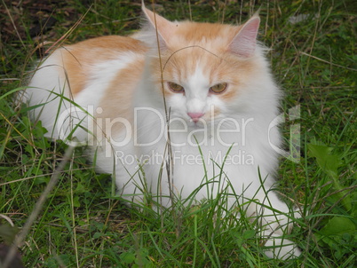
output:
[[[41,123],[29,122],[12,102],[26,83],[40,41],[74,43],[98,35],[127,35],[139,27],[140,1],[2,1],[0,45],[0,214],[21,229],[33,211],[67,146],[43,137]],[[353,1],[156,1],[168,19],[246,20],[260,7],[260,40],[285,98],[284,137],[300,128],[299,162],[282,159],[279,190],[305,217],[291,240],[303,250],[281,262],[261,254],[254,225],[234,215],[217,217],[215,201],[194,209],[127,208],[113,196],[111,178],[96,174],[83,148],[60,173],[40,215],[20,245],[27,267],[355,267],[356,214],[356,26]],[[190,4],[189,4],[190,3]],[[6,4],[6,7],[5,7]],[[242,7],[242,10],[241,10]],[[85,14],[85,15],[84,15]],[[307,18],[290,23],[292,16]],[[49,16],[56,19],[46,28]],[[16,31],[13,30],[16,25]],[[41,21],[34,38],[36,21]],[[77,23],[79,22],[79,23]],[[68,31],[68,28],[72,28]],[[30,30],[30,29],[33,30]],[[41,29],[41,28],[40,28]],[[65,36],[65,37],[63,37]],[[289,118],[294,106],[298,118]],[[1,240],[12,241],[16,228],[0,218]],[[12,231],[9,231],[12,230]]]

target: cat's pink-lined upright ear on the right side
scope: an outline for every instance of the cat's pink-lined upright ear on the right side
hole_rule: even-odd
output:
[[[233,41],[229,44],[229,51],[242,58],[251,57],[257,46],[259,23],[260,19],[258,15],[254,15],[244,23],[238,34],[234,36]]]

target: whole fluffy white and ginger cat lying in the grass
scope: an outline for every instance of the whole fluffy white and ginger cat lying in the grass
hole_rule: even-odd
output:
[[[143,12],[146,23],[131,37],[53,51],[25,93],[33,120],[51,138],[89,144],[123,198],[151,194],[169,207],[194,191],[196,201],[226,191],[226,208],[240,203],[258,219],[266,256],[299,256],[282,239],[290,209],[270,191],[281,92],[257,43],[258,16],[230,26]]]

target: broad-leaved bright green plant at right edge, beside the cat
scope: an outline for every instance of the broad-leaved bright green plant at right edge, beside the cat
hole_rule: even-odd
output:
[[[357,249],[357,193],[353,191],[356,185],[349,188],[341,185],[338,169],[343,165],[343,159],[333,154],[332,148],[317,144],[309,144],[308,148],[326,174],[321,187],[326,188],[322,190],[325,190],[325,201],[330,206],[315,235],[319,243],[328,246],[333,256],[340,260]]]

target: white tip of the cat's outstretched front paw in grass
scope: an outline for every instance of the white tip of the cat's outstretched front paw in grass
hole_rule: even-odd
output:
[[[291,240],[274,238],[266,240],[264,254],[270,258],[287,260],[301,255],[301,249]]]

